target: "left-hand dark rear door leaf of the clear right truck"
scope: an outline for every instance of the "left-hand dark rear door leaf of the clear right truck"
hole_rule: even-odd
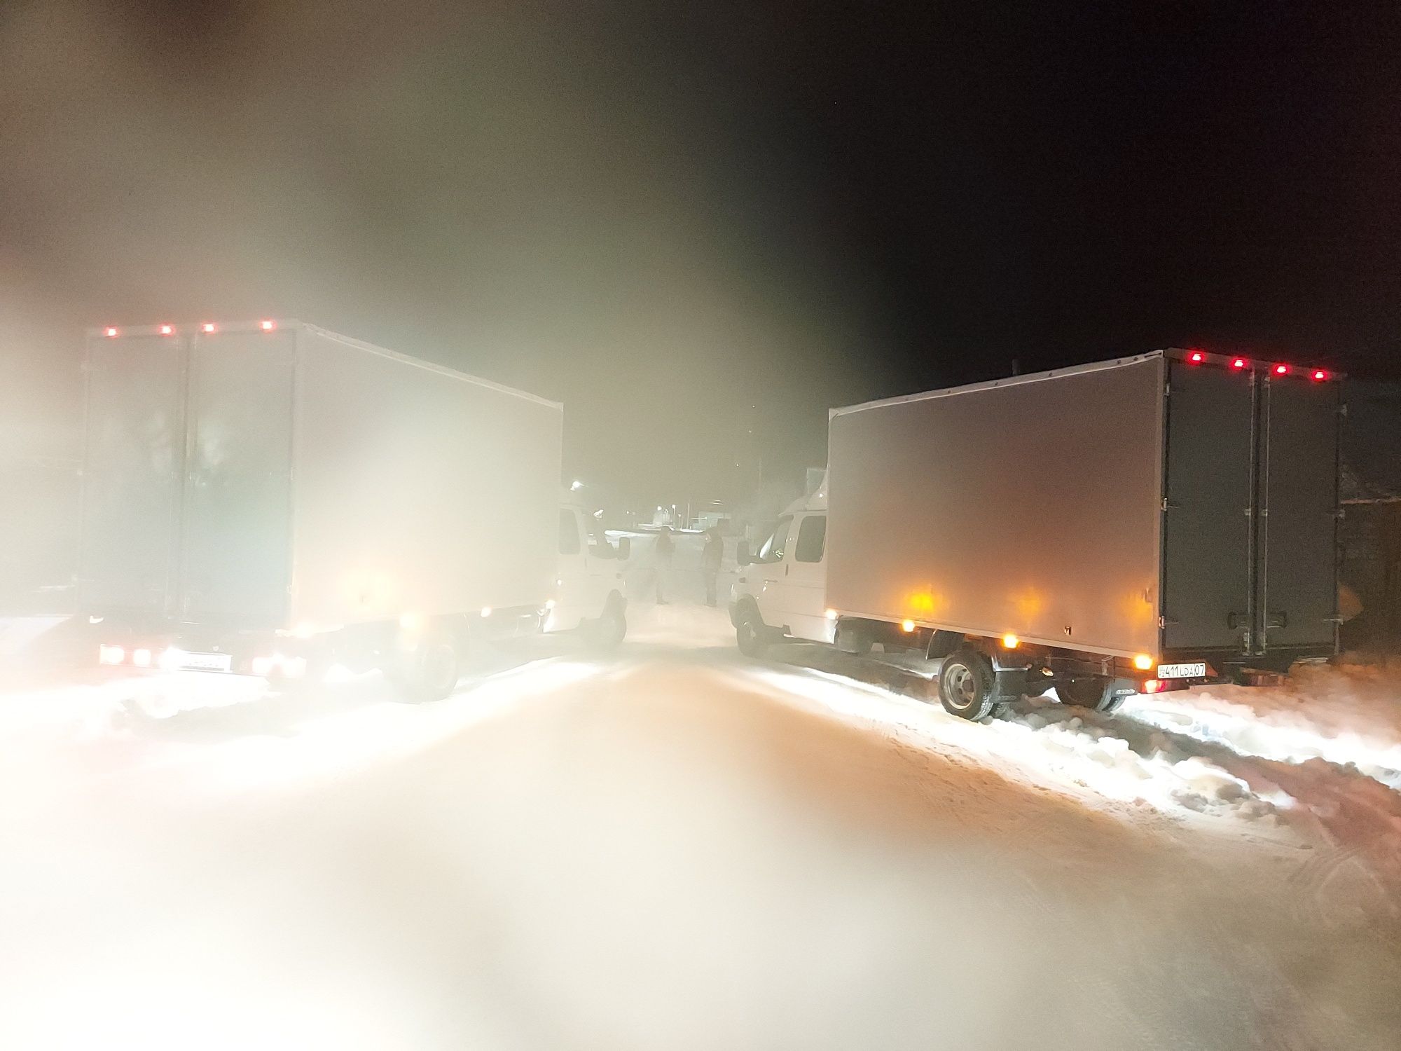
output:
[[[1163,642],[1240,649],[1250,629],[1252,373],[1173,360]]]

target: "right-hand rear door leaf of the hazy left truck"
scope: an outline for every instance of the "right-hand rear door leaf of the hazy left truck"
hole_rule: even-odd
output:
[[[192,336],[181,615],[279,626],[291,537],[296,332]]]

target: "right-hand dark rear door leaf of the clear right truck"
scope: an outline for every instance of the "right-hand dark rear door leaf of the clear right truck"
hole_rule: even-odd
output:
[[[1259,608],[1267,652],[1334,647],[1339,397],[1330,380],[1265,381]]]

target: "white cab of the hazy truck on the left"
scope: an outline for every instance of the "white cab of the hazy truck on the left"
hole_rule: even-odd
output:
[[[559,572],[545,612],[546,632],[580,632],[590,645],[611,649],[628,633],[623,569],[629,541],[609,544],[579,503],[559,507]]]

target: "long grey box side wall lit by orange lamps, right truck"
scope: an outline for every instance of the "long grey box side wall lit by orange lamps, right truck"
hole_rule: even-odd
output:
[[[1156,653],[1161,426],[1159,355],[835,412],[828,603]]]

